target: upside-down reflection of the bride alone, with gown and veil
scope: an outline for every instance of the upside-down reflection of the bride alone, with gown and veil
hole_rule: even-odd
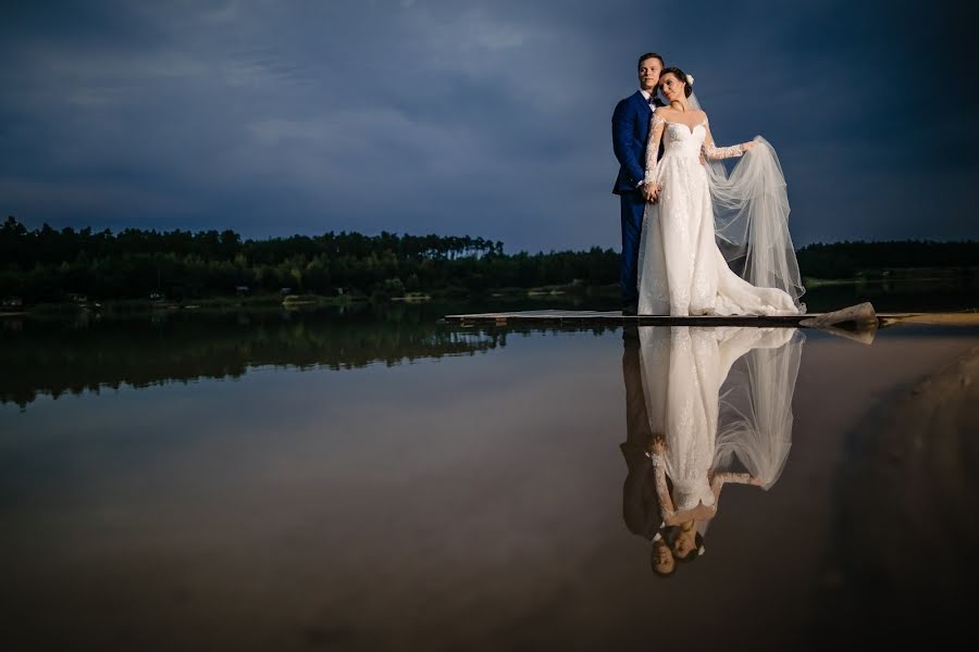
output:
[[[640,330],[656,492],[677,557],[695,556],[726,482],[778,480],[804,339],[788,328]]]

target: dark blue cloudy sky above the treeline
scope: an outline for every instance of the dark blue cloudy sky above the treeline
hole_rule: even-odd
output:
[[[776,147],[797,246],[976,239],[965,4],[3,0],[0,214],[616,247],[610,116],[654,50],[719,143]]]

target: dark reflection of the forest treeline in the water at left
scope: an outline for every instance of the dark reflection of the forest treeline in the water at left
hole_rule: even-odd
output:
[[[501,333],[451,330],[423,311],[175,313],[8,326],[0,346],[0,402],[21,406],[38,394],[236,378],[249,366],[350,369],[506,344]]]

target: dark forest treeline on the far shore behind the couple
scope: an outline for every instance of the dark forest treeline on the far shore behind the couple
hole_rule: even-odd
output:
[[[803,275],[847,278],[868,269],[979,264],[979,242],[835,242],[798,251]],[[325,233],[243,240],[233,230],[119,233],[91,228],[29,230],[14,217],[0,226],[0,298],[59,301],[171,299],[278,292],[400,296],[480,292],[618,280],[612,249],[504,252],[499,241],[469,236],[382,231]],[[247,290],[245,290],[247,288]]]

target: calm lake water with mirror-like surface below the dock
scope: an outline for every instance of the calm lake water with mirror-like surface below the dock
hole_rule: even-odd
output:
[[[786,650],[965,630],[979,328],[863,344],[438,322],[513,308],[534,306],[0,319],[3,649]],[[668,456],[716,439],[717,464],[766,488],[724,485],[704,553],[660,577],[644,451],[686,413],[709,432]]]

